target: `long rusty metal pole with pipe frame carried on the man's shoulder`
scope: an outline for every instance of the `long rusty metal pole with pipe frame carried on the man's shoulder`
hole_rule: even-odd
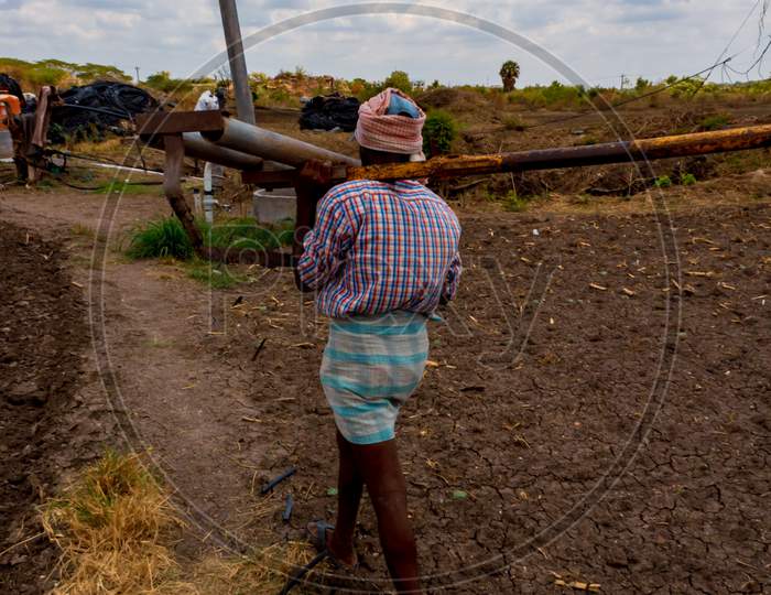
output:
[[[150,113],[138,119],[140,138],[166,152],[164,188],[166,198],[182,221],[196,252],[215,260],[229,260],[205,247],[181,186],[186,148],[195,156],[240,169],[242,181],[265,188],[292,187],[297,167],[308,159],[330,161],[333,180],[415,180],[461,177],[528,170],[552,170],[645,162],[659,159],[706,155],[771,147],[771,125],[735,128],[588,147],[539,149],[488,155],[438,156],[424,162],[393,163],[362,167],[358,161],[319,149],[259,127],[228,120],[218,111]],[[196,137],[191,137],[196,134]],[[195,140],[193,143],[192,141]],[[205,154],[205,156],[204,156]],[[263,159],[273,160],[264,162]],[[278,162],[278,163],[276,163]],[[246,165],[246,166],[245,166]],[[291,255],[264,252],[239,255],[243,261],[270,267],[287,266]]]

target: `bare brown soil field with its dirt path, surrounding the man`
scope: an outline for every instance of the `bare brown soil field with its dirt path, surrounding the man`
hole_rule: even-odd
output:
[[[629,121],[672,129],[656,118]],[[504,147],[475,126],[469,151],[574,137]],[[620,170],[518,178],[564,192],[524,213],[452,193],[461,290],[399,428],[427,588],[771,592],[771,172],[768,151],[747,159],[758,171],[694,161],[696,185],[628,201],[584,193]],[[107,447],[146,453],[173,490],[183,567],[334,519],[327,322],[287,271],[239,268],[220,291],[126,259],[128,231],[167,213],[152,187],[0,193],[0,593],[54,585],[36,507]],[[296,592],[387,591],[367,502],[357,550],[355,575],[325,567]]]

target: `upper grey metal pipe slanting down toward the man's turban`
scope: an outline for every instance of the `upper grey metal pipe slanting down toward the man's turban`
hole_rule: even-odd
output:
[[[332,161],[350,166],[360,165],[359,161],[354,158],[232,119],[225,119],[221,131],[204,132],[203,137],[217,147],[278,161],[294,167],[302,167],[310,159]]]

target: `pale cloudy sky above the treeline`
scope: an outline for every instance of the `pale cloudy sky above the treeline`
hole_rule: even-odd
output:
[[[269,74],[302,65],[314,74],[379,79],[403,69],[428,82],[491,84],[499,80],[501,62],[514,58],[522,65],[522,84],[564,79],[565,71],[536,55],[546,52],[587,83],[609,86],[621,74],[656,79],[705,68],[762,1],[423,0],[490,21],[541,50],[408,9],[406,14],[311,22],[251,46],[247,62],[250,71]],[[285,19],[345,6],[350,2],[238,0],[247,39]],[[225,48],[217,0],[0,0],[0,18],[7,32],[0,39],[2,56],[109,63],[131,73],[140,66],[142,76],[161,69],[189,76],[216,64]],[[737,69],[753,61],[758,23],[759,11],[730,45],[729,55],[742,52],[735,58]],[[720,73],[715,76],[720,79]]]

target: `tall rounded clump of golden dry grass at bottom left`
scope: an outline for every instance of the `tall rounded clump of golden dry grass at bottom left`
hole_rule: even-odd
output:
[[[107,453],[43,510],[62,550],[54,593],[194,593],[169,549],[181,526],[139,456]]]

